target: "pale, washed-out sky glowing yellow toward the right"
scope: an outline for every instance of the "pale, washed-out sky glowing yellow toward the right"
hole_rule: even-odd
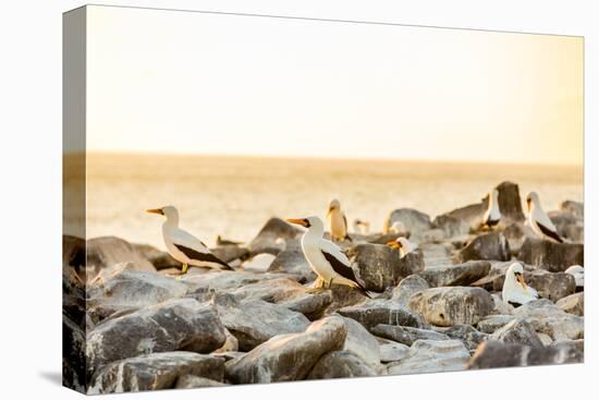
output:
[[[583,162],[580,37],[89,7],[91,151]]]

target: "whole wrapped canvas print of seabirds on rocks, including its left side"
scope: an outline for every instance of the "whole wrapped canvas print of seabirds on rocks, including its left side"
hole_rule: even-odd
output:
[[[582,37],[63,26],[65,386],[584,361]]]

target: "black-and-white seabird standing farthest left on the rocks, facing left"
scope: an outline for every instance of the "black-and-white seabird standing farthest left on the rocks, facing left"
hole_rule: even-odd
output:
[[[187,271],[188,265],[205,268],[233,269],[229,264],[210,253],[208,246],[199,239],[179,228],[179,211],[175,207],[166,206],[146,211],[167,217],[167,220],[162,223],[162,239],[171,256],[183,264],[182,274]]]

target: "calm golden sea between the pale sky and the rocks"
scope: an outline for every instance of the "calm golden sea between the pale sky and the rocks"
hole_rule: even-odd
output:
[[[502,181],[517,183],[523,201],[538,192],[546,210],[584,198],[579,166],[90,154],[86,171],[87,238],[115,235],[159,249],[162,217],[145,210],[166,205],[179,208],[182,228],[213,245],[219,234],[248,242],[273,216],[325,218],[332,198],[350,225],[366,220],[372,231],[395,208],[435,218],[480,202]],[[65,230],[75,222],[66,217]]]

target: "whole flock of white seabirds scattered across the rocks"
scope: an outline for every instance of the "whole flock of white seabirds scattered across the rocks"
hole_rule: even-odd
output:
[[[541,207],[539,196],[535,192],[526,195],[527,225],[541,239],[552,240],[562,243],[558,230],[551,219]],[[179,227],[179,211],[174,206],[148,209],[147,213],[158,214],[166,217],[162,223],[162,238],[171,256],[182,264],[182,274],[187,271],[188,266],[218,268],[233,270],[230,265],[215,256],[208,246],[199,239]],[[501,220],[499,208],[499,192],[492,190],[489,193],[489,203],[482,218],[482,226],[493,229]],[[352,241],[347,232],[347,218],[341,209],[338,199],[329,204],[327,222],[331,240],[323,238],[325,223],[319,217],[288,219],[289,223],[298,225],[306,229],[302,237],[302,250],[311,269],[319,278],[320,286],[310,290],[321,290],[331,284],[345,284],[359,290],[363,294],[371,296],[364,286],[356,278],[350,259],[335,244],[340,241]],[[354,228],[367,231],[369,223],[356,220]],[[390,232],[404,232],[401,222],[395,222],[389,229]],[[219,238],[219,242],[223,242]],[[234,243],[234,242],[233,242]],[[398,249],[400,257],[417,250],[417,245],[409,242],[407,238],[400,237],[387,243],[392,249]],[[523,278],[524,268],[522,264],[512,264],[506,271],[503,284],[503,301],[513,305],[525,304],[539,298],[537,291],[526,284]]]

